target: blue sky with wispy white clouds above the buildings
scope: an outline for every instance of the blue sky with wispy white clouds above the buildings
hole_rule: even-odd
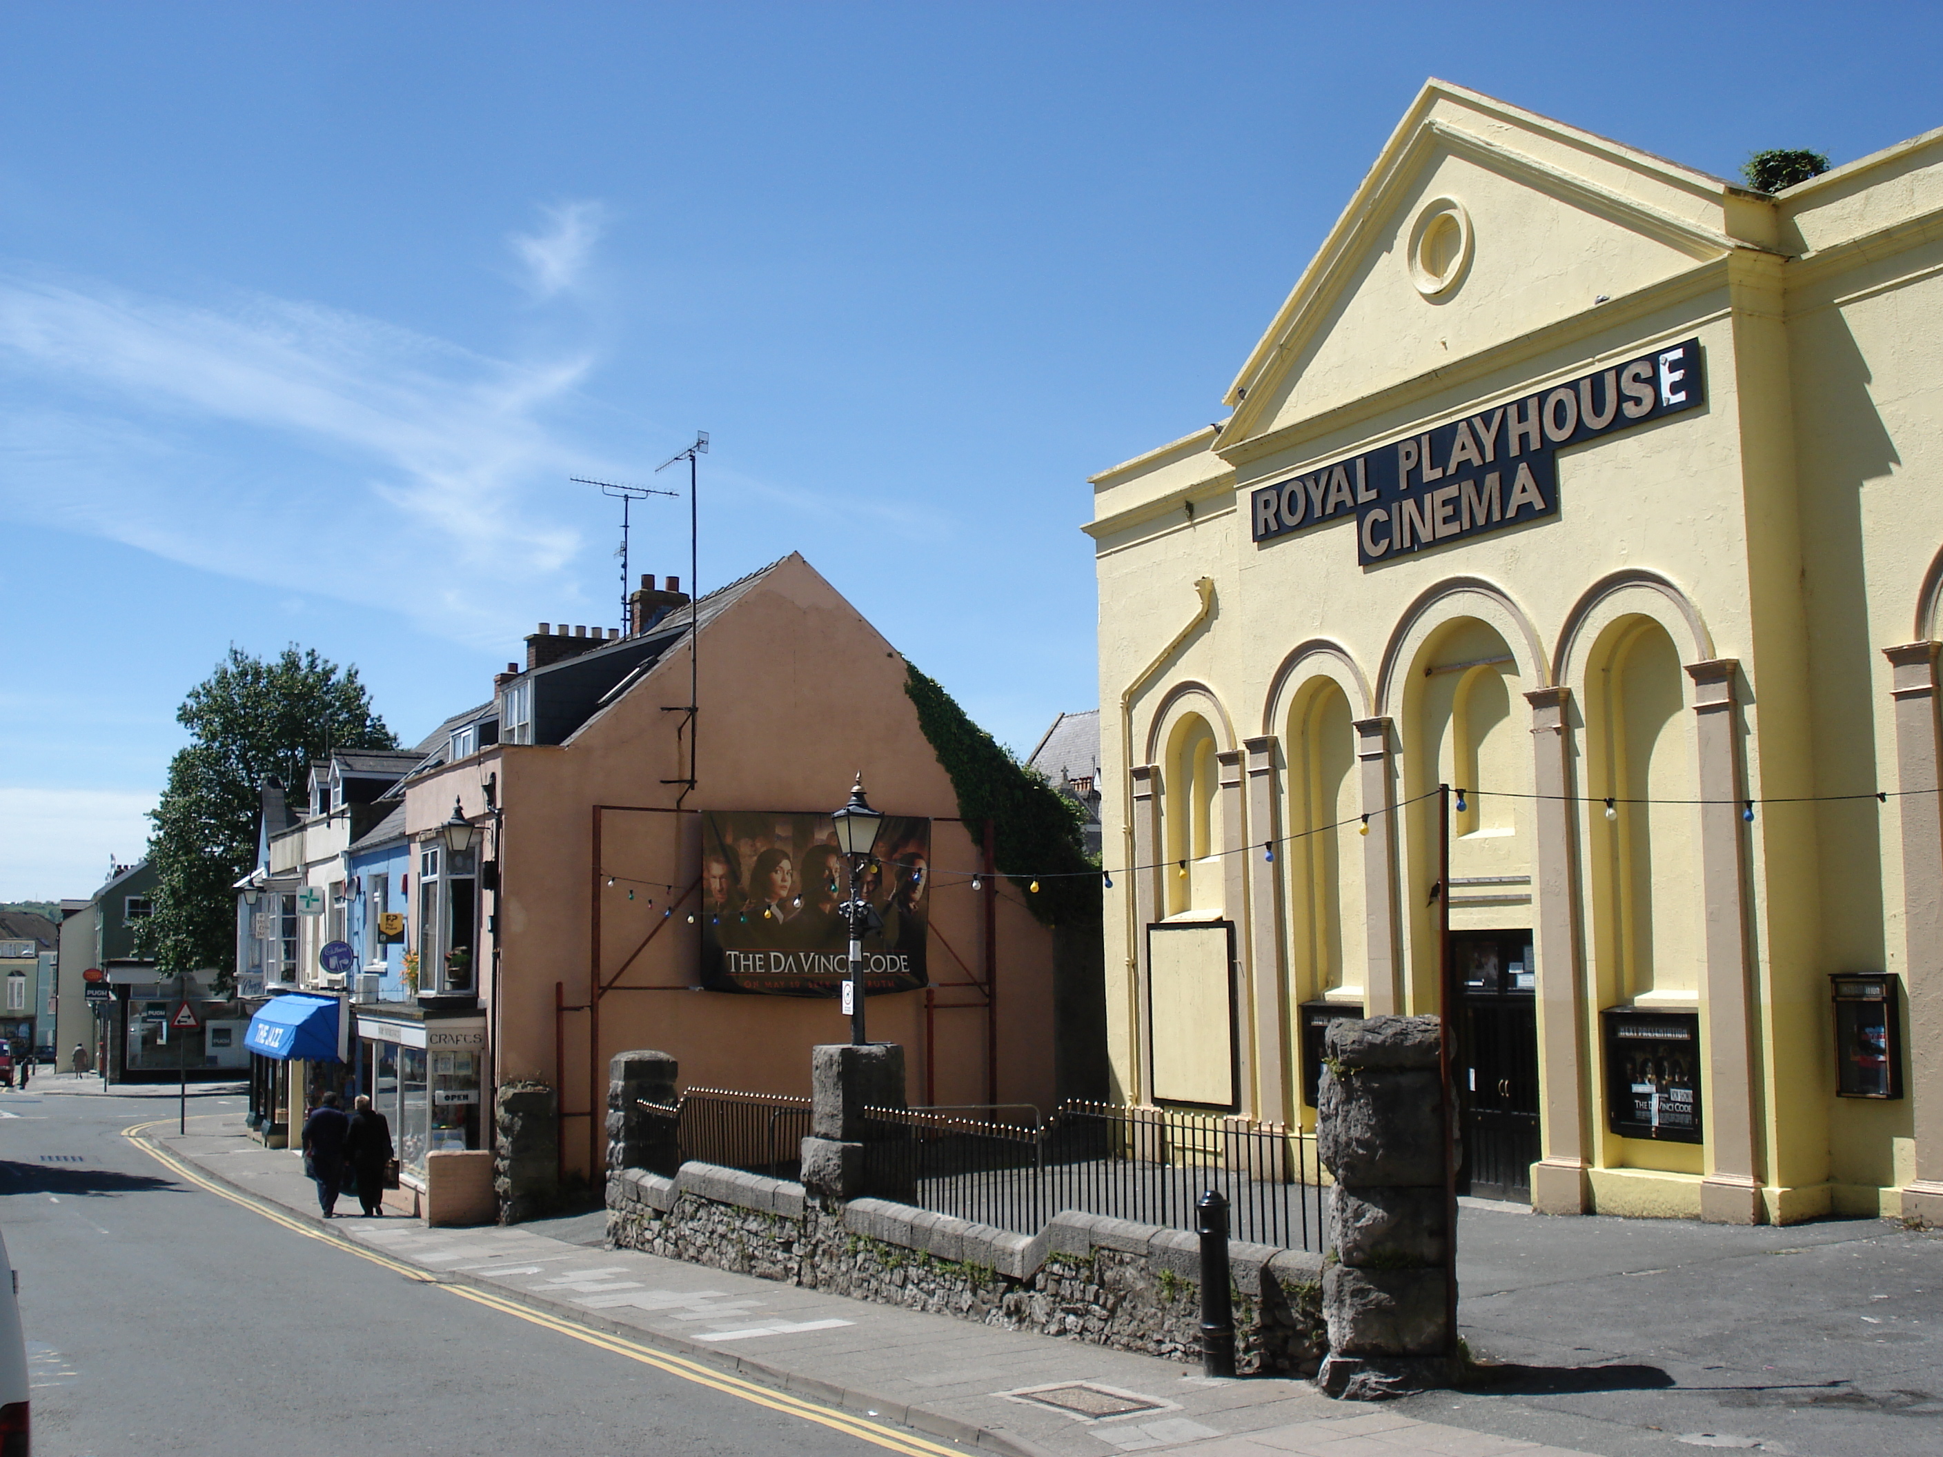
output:
[[[1426,76],[1733,175],[1943,124],[1943,8],[0,8],[0,898],[140,853],[229,643],[418,738],[801,550],[1003,740],[1096,699],[1086,476],[1218,400]],[[670,472],[672,476],[674,472]],[[668,484],[661,478],[655,484]],[[686,513],[635,513],[686,575]],[[839,787],[832,791],[839,793]]]

